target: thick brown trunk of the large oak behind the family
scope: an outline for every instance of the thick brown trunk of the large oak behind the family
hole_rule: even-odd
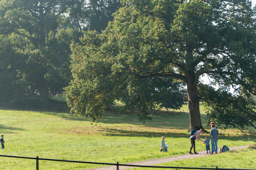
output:
[[[190,117],[190,126],[189,130],[193,129],[203,129],[200,109],[199,109],[199,99],[197,96],[197,85],[196,83],[188,83],[188,109],[189,109],[189,117]]]

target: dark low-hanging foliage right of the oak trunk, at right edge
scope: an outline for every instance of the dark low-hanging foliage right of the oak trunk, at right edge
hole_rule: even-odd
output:
[[[207,122],[217,123],[225,128],[238,128],[243,131],[249,127],[255,128],[255,103],[249,94],[233,95],[226,89],[215,90],[201,86],[205,105],[208,108]]]

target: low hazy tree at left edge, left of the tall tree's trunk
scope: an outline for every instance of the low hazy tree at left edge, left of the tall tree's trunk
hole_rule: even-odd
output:
[[[17,48],[25,45],[25,38],[14,34],[0,37],[0,103],[9,106],[10,101],[22,100],[31,92],[19,71],[26,65],[26,56],[19,54]]]

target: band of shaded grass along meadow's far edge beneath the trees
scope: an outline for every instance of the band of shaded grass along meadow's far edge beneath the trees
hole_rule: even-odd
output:
[[[139,121],[139,117],[137,114],[139,111],[134,109],[129,112],[119,112],[121,110],[122,105],[116,105],[111,107],[111,111],[105,111],[102,113],[102,119],[98,120],[98,122],[105,124],[133,124],[133,125],[143,125],[143,122]],[[69,112],[59,112],[59,111],[47,111],[44,109],[18,109],[18,108],[8,108],[4,106],[0,106],[0,109],[6,111],[21,111],[21,112],[38,112],[46,115],[58,116],[60,118],[65,118],[66,120],[73,121],[85,121],[92,122],[92,120],[88,120],[84,113],[80,116],[75,116]],[[170,128],[170,123],[164,123],[165,121],[170,121],[171,119],[175,119],[176,117],[180,118],[189,118],[188,114],[182,111],[149,111],[149,116],[153,118],[153,121],[146,121],[146,124],[150,123],[152,126],[164,126],[166,128]],[[157,119],[162,119],[159,123]],[[172,121],[171,121],[172,122]],[[163,125],[165,124],[165,125]],[[181,125],[184,123],[180,123]]]

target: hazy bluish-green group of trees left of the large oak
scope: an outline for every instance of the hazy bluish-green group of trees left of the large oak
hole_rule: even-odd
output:
[[[71,80],[71,42],[84,30],[104,30],[119,6],[119,1],[1,0],[1,103],[49,104],[49,96]]]

